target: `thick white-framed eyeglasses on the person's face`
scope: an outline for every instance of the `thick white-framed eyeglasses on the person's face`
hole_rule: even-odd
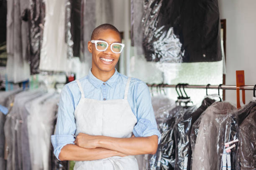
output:
[[[108,42],[101,41],[101,40],[91,40],[91,42],[95,43],[96,50],[98,51],[105,51],[108,48]],[[116,43],[116,42],[110,45],[111,51],[117,54],[122,52],[123,47],[124,47],[124,44]]]

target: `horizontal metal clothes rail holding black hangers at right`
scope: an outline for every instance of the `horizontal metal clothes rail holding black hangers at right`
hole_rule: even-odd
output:
[[[148,87],[173,87],[177,85],[168,85],[168,84],[147,84]],[[203,88],[206,89],[207,85],[184,85],[185,88]],[[219,85],[209,85],[207,89],[218,89]],[[240,86],[240,90],[253,90],[254,85],[244,85]],[[222,90],[236,90],[236,85],[221,85],[220,89]]]

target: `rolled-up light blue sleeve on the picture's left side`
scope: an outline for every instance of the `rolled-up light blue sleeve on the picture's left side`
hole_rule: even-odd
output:
[[[75,131],[74,100],[68,86],[65,85],[60,95],[55,134],[51,135],[54,155],[58,160],[61,149],[67,144],[74,144],[75,139],[72,134]]]

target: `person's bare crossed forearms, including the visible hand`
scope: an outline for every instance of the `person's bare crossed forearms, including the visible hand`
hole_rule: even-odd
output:
[[[79,133],[75,145],[65,145],[59,160],[98,160],[112,156],[154,154],[157,150],[157,135],[149,137],[112,138]]]

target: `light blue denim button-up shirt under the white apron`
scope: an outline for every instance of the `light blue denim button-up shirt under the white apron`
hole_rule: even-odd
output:
[[[97,79],[91,72],[79,79],[86,98],[95,100],[116,100],[123,99],[125,85],[128,77],[120,74],[117,70],[109,80],[104,82]],[[80,100],[81,92],[77,82],[73,81],[63,87],[59,101],[58,118],[55,135],[51,136],[51,143],[54,147],[54,155],[59,159],[61,149],[67,144],[74,144],[74,137],[71,134],[76,132],[74,110]],[[136,78],[131,78],[128,90],[128,103],[133,114],[137,117],[133,134],[136,137],[158,136],[158,143],[161,140],[156,125],[151,95],[146,83]]]

